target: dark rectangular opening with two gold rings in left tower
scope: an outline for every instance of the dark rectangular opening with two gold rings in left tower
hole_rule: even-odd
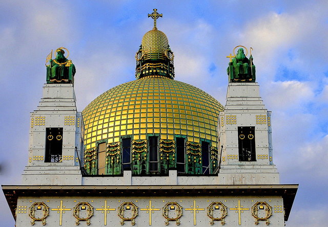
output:
[[[61,162],[63,153],[63,128],[46,128],[46,163]]]

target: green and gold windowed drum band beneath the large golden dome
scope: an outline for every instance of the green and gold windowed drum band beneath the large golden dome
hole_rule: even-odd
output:
[[[97,148],[85,152],[85,168],[90,175],[210,175],[217,168],[217,149],[209,142],[186,142],[186,138],[159,139],[154,134],[148,140],[121,138],[120,142],[97,142]]]

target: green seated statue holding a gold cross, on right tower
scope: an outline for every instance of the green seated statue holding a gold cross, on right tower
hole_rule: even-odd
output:
[[[229,62],[227,73],[230,82],[255,82],[255,65],[253,64],[252,54],[248,59],[243,48],[239,48],[237,54]]]

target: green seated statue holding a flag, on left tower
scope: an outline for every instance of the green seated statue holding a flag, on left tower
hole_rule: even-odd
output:
[[[72,60],[65,57],[66,48],[58,48],[55,53],[55,59],[52,58],[52,51],[48,55],[46,62],[47,67],[47,83],[74,83],[75,66]]]

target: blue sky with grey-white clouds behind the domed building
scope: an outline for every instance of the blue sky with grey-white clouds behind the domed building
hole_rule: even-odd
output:
[[[287,226],[325,226],[328,210],[328,2],[21,1],[0,3],[0,184],[20,183],[29,112],[42,97],[45,59],[65,47],[76,66],[78,110],[134,79],[135,52],[157,27],[175,54],[176,80],[225,104],[235,46],[252,47],[257,82],[273,111],[274,162],[282,184],[299,184]],[[0,193],[3,226],[14,226]]]

